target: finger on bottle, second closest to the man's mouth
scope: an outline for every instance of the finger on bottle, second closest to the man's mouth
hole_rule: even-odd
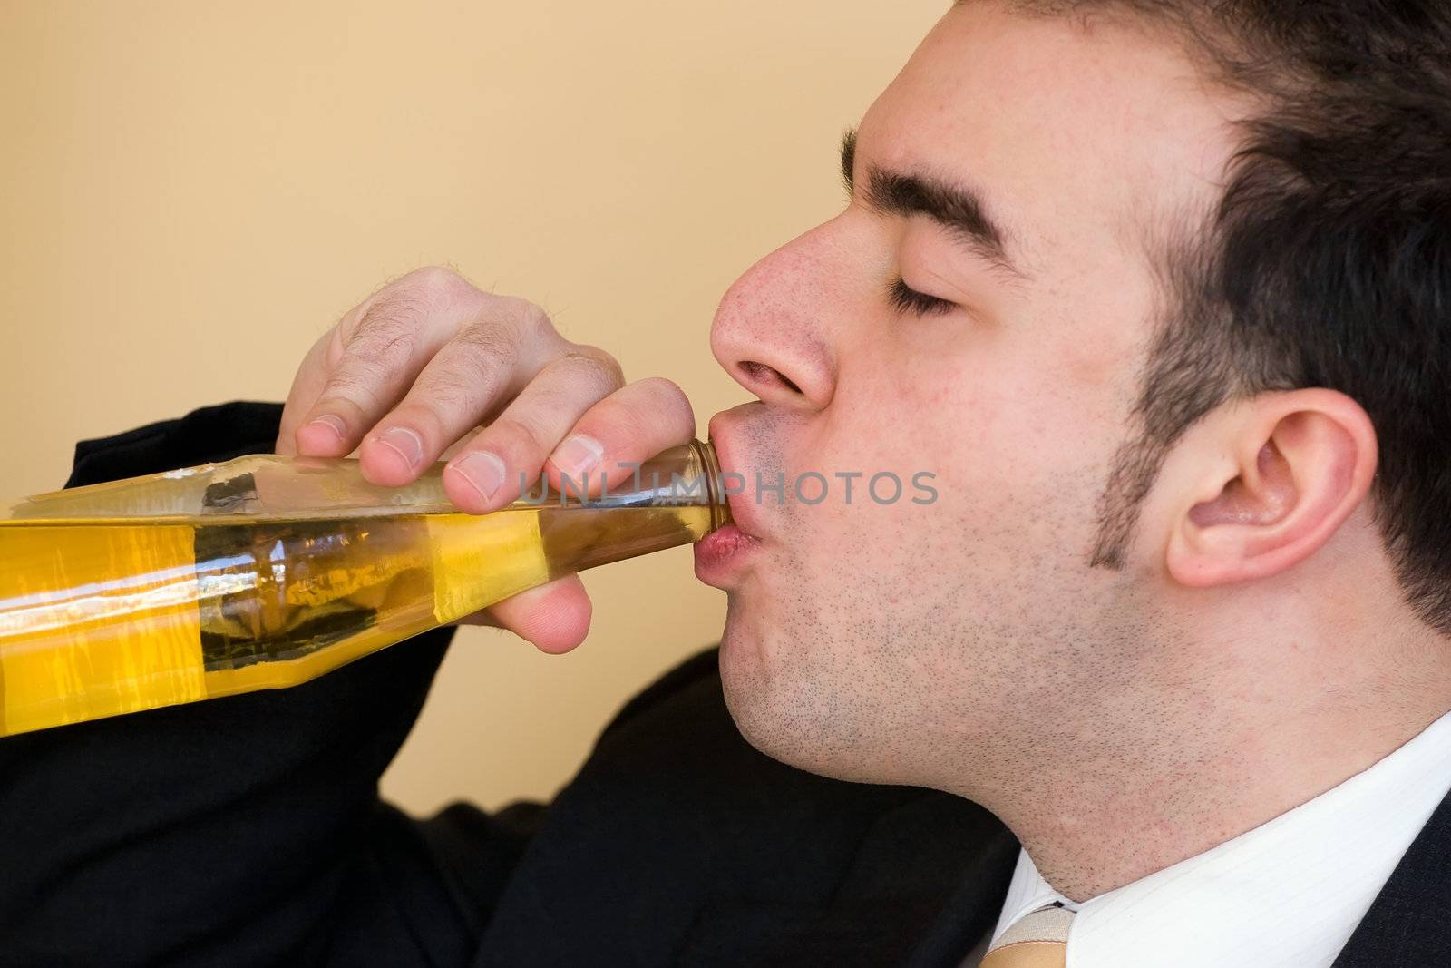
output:
[[[548,363],[448,460],[443,477],[448,498],[472,514],[517,499],[575,422],[622,383],[620,364],[595,347],[575,347]]]

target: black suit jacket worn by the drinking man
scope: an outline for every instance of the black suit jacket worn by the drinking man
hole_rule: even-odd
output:
[[[267,451],[279,417],[83,441],[68,485]],[[1019,845],[992,816],[757,753],[714,649],[633,698],[551,804],[402,814],[377,778],[450,639],[0,740],[0,965],[955,968],[995,922]],[[1338,965],[1451,965],[1448,852],[1444,804]]]

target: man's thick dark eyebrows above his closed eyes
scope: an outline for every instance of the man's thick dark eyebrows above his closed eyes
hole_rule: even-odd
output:
[[[842,136],[842,181],[856,193],[856,129]],[[982,196],[965,184],[924,174],[887,171],[871,165],[866,205],[882,215],[926,215],[955,235],[969,251],[1014,276],[1023,276],[1007,253],[1008,234],[988,215]]]

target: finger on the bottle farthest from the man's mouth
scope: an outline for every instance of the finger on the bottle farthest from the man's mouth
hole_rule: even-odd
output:
[[[445,268],[422,268],[370,296],[331,331],[321,367],[299,373],[302,453],[341,457],[392,409],[488,296]],[[321,373],[321,380],[319,374]],[[300,402],[321,382],[308,406]]]

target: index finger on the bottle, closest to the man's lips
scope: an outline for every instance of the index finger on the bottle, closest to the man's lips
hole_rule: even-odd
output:
[[[679,386],[663,377],[637,380],[589,408],[544,470],[556,493],[579,493],[588,483],[593,495],[631,480],[634,464],[694,435],[695,415]]]

